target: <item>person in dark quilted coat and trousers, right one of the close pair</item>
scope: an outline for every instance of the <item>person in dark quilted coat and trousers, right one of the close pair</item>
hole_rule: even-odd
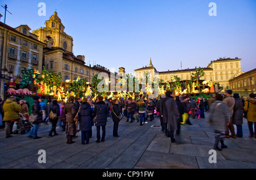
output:
[[[100,143],[100,139],[102,142],[105,142],[105,135],[106,135],[106,122],[108,118],[108,106],[103,101],[103,97],[98,97],[98,102],[95,104],[94,116],[97,115],[95,126],[97,127],[97,143]],[[100,134],[100,130],[102,128],[102,137]]]

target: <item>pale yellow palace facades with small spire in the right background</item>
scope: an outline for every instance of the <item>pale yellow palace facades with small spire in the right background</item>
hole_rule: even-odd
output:
[[[229,89],[229,80],[242,74],[241,71],[241,59],[239,58],[220,58],[215,61],[211,61],[209,65],[204,69],[204,76],[201,77],[201,80],[210,81],[213,83],[220,83],[220,86],[223,89]],[[163,79],[164,82],[172,82],[174,76],[179,77],[181,80],[190,80],[192,73],[195,73],[195,68],[187,68],[185,70],[174,70],[174,71],[157,71],[156,68],[152,65],[150,59],[150,64],[146,67],[138,68],[134,70],[135,77],[140,79],[143,77],[144,72],[150,72],[151,81],[157,75],[159,79]]]

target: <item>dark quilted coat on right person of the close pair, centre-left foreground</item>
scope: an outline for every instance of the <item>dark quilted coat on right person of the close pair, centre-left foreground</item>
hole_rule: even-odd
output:
[[[95,124],[96,126],[106,126],[109,110],[108,110],[108,106],[105,104],[104,101],[98,101],[95,104],[93,114],[94,116],[98,115],[96,119],[96,124]]]

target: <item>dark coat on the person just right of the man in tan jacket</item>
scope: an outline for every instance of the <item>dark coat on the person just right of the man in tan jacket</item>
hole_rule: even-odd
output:
[[[243,123],[243,102],[240,98],[235,99],[232,122],[234,125],[242,125]]]

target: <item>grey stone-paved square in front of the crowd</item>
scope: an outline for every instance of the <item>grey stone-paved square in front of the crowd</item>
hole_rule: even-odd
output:
[[[89,144],[81,144],[81,132],[74,144],[67,144],[64,131],[49,137],[51,125],[41,124],[38,135],[42,139],[13,135],[5,138],[0,130],[1,169],[169,169],[169,168],[256,168],[256,139],[249,138],[247,121],[243,121],[243,138],[225,139],[228,148],[217,151],[217,163],[210,164],[209,150],[213,148],[214,133],[209,125],[208,112],[204,119],[191,119],[192,126],[181,125],[176,142],[171,143],[160,130],[159,118],[139,126],[137,121],[119,123],[119,138],[112,135],[113,122],[109,118],[105,142],[96,143],[96,127]],[[156,127],[152,127],[155,125]],[[15,129],[15,127],[14,127]],[[235,126],[236,130],[236,126]],[[38,151],[46,151],[46,164],[39,164]]]

